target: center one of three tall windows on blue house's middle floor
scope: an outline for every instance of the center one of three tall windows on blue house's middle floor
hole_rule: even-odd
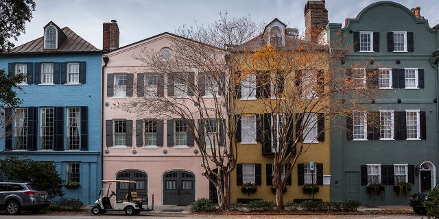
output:
[[[51,150],[54,143],[54,108],[41,108],[40,114],[40,148]]]

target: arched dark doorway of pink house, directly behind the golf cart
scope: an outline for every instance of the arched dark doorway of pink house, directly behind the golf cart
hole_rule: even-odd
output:
[[[116,179],[119,180],[131,180],[136,181],[136,191],[139,196],[147,196],[147,182],[148,176],[145,172],[139,170],[123,170],[118,172],[116,175]],[[116,198],[117,200],[125,199],[125,195],[130,192],[129,183],[117,183],[116,184]]]

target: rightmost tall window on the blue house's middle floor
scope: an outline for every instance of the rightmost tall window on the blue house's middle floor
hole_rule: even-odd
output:
[[[67,149],[80,149],[80,108],[67,108]]]

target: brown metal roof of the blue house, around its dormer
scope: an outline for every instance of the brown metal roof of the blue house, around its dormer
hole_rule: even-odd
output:
[[[94,47],[90,42],[87,42],[78,34],[73,32],[69,27],[61,29],[62,33],[67,38],[60,44],[58,49],[43,49],[44,37],[40,37],[36,40],[26,42],[19,47],[15,47],[3,55],[24,55],[24,54],[48,54],[48,53],[100,53],[102,50]]]

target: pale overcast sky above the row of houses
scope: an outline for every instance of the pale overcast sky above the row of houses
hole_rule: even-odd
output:
[[[287,27],[305,30],[303,11],[307,0],[35,0],[33,18],[26,24],[26,34],[16,46],[43,36],[43,27],[54,21],[69,27],[95,47],[102,49],[102,23],[116,20],[120,47],[150,38],[165,31],[174,33],[182,25],[213,23],[219,12],[229,17],[250,16],[256,23],[268,24],[278,18]],[[439,23],[439,0],[394,0],[420,14],[430,27]],[[355,18],[367,5],[377,0],[327,0],[329,23]]]

